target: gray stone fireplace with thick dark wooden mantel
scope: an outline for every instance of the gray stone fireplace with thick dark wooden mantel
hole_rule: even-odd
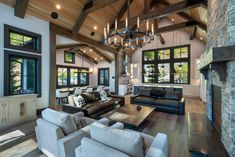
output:
[[[212,119],[213,86],[221,88],[221,141],[235,157],[235,1],[208,1],[206,52],[200,71],[207,80],[208,118]]]

